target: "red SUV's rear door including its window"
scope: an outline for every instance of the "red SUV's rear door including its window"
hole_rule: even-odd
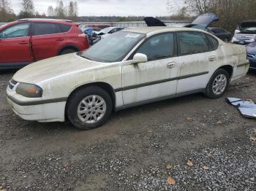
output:
[[[64,43],[66,34],[62,32],[59,23],[33,23],[33,52],[38,61],[58,55],[61,44]]]

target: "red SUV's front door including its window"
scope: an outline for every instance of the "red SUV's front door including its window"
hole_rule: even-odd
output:
[[[30,23],[18,23],[0,31],[0,52],[0,63],[31,63],[34,58],[30,47]]]

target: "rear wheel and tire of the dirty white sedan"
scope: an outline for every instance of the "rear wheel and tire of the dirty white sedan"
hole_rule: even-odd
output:
[[[220,98],[227,90],[230,82],[230,75],[225,69],[218,69],[212,75],[204,95],[208,98]],[[215,87],[214,87],[215,86]]]

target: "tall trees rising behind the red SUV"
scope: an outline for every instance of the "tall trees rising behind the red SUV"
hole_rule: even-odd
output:
[[[20,3],[20,12],[16,15],[11,8],[10,1],[11,0],[0,0],[0,22],[11,22],[13,20],[29,17],[78,19],[78,3],[76,1],[69,1],[67,5],[64,5],[63,1],[57,1],[56,7],[48,7],[48,15],[37,12],[34,9],[33,0],[22,0]]]

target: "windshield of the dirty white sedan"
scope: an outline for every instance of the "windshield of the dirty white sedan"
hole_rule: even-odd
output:
[[[117,32],[100,40],[97,44],[80,53],[83,58],[99,62],[121,61],[129,51],[143,39],[144,34]]]

